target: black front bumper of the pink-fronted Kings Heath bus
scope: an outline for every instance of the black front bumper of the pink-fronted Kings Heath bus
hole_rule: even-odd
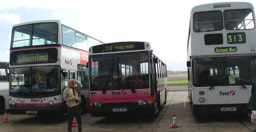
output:
[[[113,112],[116,108],[127,108],[127,111]],[[136,106],[100,106],[100,107],[90,107],[90,115],[93,117],[116,115],[116,114],[131,114],[131,115],[145,115],[145,114],[155,114],[155,109],[152,104],[147,105],[136,105]]]

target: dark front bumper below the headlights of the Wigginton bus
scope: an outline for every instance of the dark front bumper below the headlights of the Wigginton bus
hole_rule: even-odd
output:
[[[59,112],[60,107],[10,107],[11,115],[39,115]],[[27,111],[37,111],[37,114],[28,114]]]

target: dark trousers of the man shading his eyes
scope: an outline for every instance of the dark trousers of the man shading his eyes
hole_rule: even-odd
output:
[[[78,125],[78,131],[82,131],[82,119],[81,119],[81,106],[68,107],[68,130],[72,130],[72,123],[74,116],[76,117],[76,122]]]

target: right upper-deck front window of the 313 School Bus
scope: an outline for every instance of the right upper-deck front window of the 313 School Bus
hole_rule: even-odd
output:
[[[246,10],[225,10],[224,24],[226,30],[254,29],[253,13]]]

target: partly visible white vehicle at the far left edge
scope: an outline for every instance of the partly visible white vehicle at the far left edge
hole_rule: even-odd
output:
[[[9,108],[9,61],[0,60],[0,114]]]

